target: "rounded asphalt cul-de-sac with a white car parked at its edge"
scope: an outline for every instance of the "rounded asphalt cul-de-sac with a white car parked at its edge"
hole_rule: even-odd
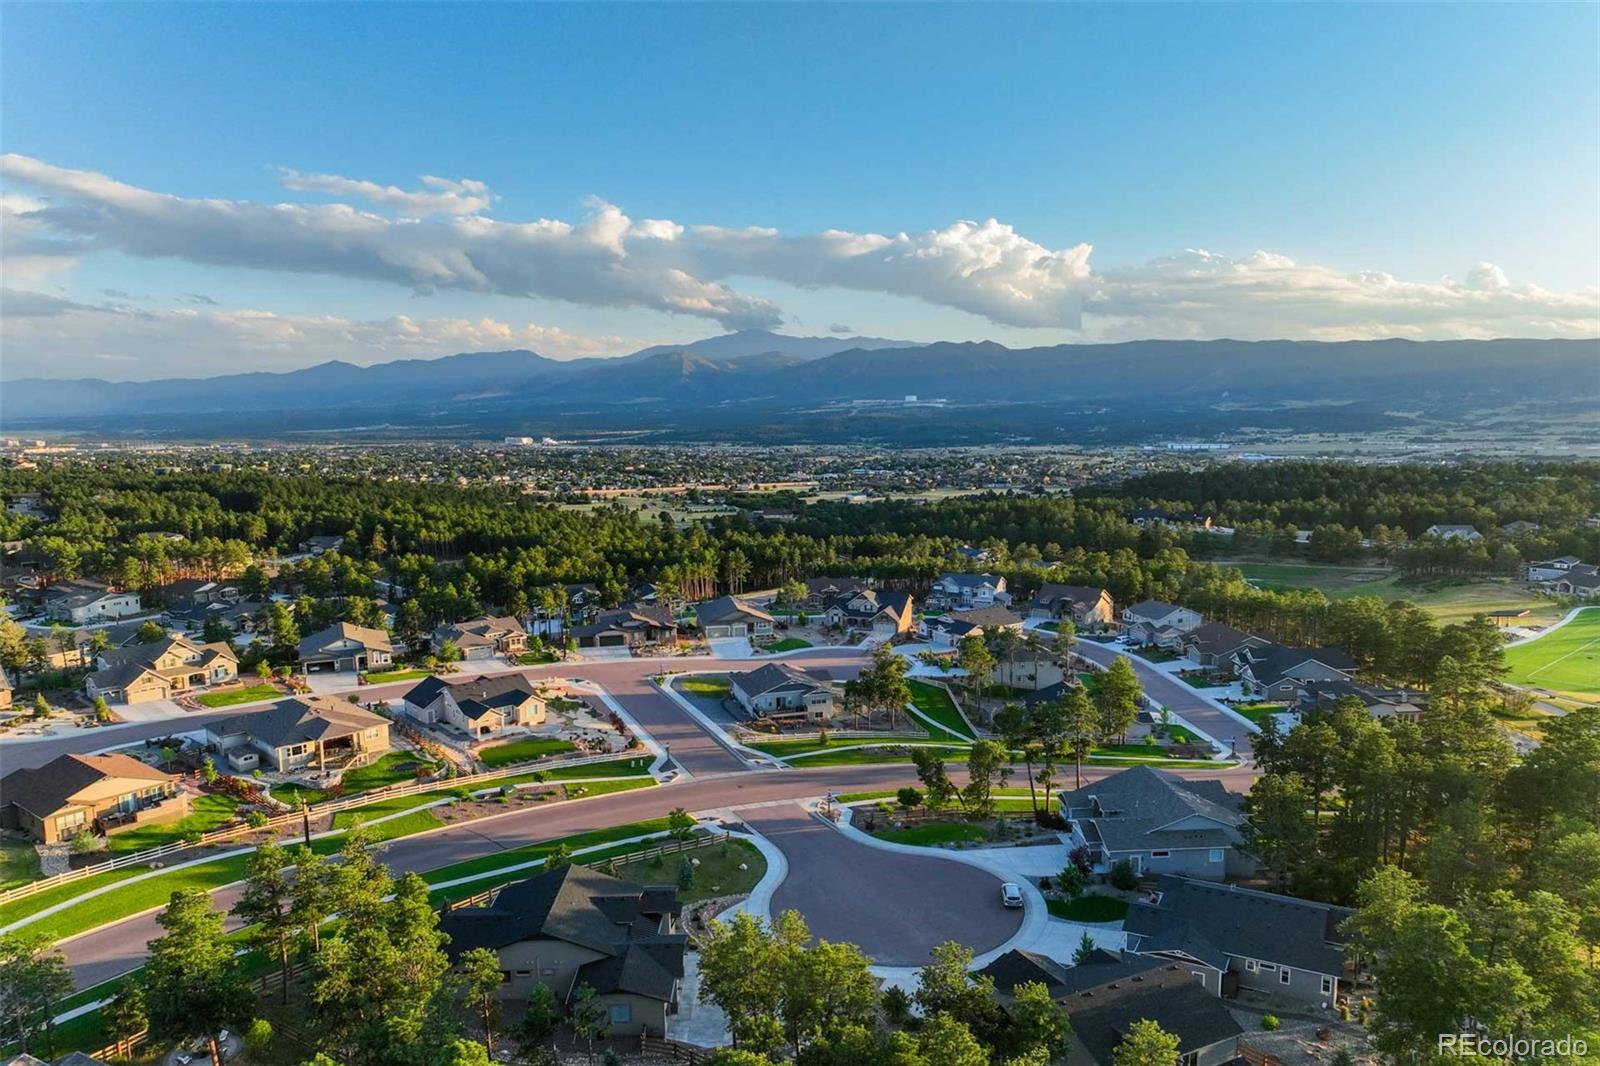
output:
[[[816,938],[859,944],[878,965],[920,967],[947,940],[982,954],[1022,927],[1022,911],[1000,906],[1000,879],[974,866],[856,844],[795,804],[736,813],[789,863],[773,912],[798,911]]]

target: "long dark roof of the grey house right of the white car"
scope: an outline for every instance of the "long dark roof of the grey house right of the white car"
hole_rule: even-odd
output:
[[[1312,973],[1344,970],[1339,922],[1354,911],[1314,900],[1158,876],[1158,903],[1133,903],[1123,930],[1139,952],[1182,951],[1277,962]],[[1213,962],[1213,965],[1216,965]]]

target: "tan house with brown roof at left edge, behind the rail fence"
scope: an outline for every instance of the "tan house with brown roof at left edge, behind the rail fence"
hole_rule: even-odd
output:
[[[131,755],[56,755],[0,778],[0,828],[59,844],[86,831],[176,821],[189,813],[181,779]]]

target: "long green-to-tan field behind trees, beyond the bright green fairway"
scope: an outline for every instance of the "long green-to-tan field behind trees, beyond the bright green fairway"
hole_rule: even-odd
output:
[[[1526,610],[1518,621],[1549,624],[1563,608],[1504,578],[1437,579],[1400,584],[1386,567],[1314,567],[1309,563],[1218,563],[1235,567],[1262,589],[1322,589],[1330,600],[1376,595],[1382,600],[1411,600],[1440,624],[1466,621],[1478,613]]]

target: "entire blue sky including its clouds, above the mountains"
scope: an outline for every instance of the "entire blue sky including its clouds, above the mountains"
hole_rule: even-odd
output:
[[[560,355],[741,325],[1594,335],[1597,54],[1595,5],[6,5],[3,373],[374,362],[501,325]],[[491,198],[413,221],[285,171]],[[283,248],[208,200],[394,224],[350,266],[333,216]],[[590,243],[462,243],[595,202],[688,229],[602,240],[626,283]]]

